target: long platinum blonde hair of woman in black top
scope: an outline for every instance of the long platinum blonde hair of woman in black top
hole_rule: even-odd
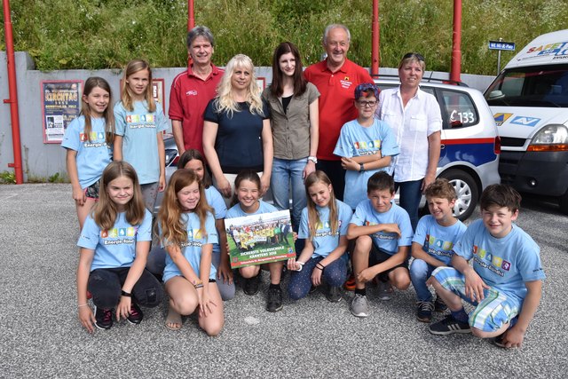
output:
[[[233,112],[240,112],[238,103],[233,99],[233,86],[231,80],[237,68],[245,69],[250,72],[250,84],[247,89],[245,101],[248,103],[248,110],[251,114],[264,115],[263,101],[260,99],[260,87],[256,83],[255,67],[252,60],[244,54],[237,54],[229,60],[225,67],[225,74],[217,87],[217,99],[215,100],[215,111],[217,113],[226,112],[229,118],[233,117]]]

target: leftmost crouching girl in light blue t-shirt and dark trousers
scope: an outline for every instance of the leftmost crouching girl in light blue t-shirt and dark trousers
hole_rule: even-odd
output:
[[[144,268],[151,241],[152,215],[144,207],[136,171],[127,162],[111,162],[100,179],[99,202],[77,242],[79,320],[90,333],[93,325],[111,328],[114,317],[139,324],[143,313],[138,305],[162,303],[162,286]]]

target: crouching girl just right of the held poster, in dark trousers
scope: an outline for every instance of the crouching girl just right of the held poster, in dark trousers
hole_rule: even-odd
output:
[[[297,300],[308,295],[312,286],[327,282],[327,300],[342,299],[341,286],[347,276],[347,226],[351,207],[335,199],[331,181],[323,171],[305,179],[308,206],[302,210],[298,238],[307,239],[302,254],[288,259],[291,270],[288,296]]]

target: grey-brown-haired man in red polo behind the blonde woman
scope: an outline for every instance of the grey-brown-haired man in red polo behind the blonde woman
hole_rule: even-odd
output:
[[[179,154],[197,149],[203,154],[203,114],[217,94],[223,70],[211,63],[215,40],[207,27],[187,33],[187,52],[193,63],[171,83],[170,120]]]

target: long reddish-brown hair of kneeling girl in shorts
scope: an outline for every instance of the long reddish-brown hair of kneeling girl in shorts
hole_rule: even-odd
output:
[[[203,184],[193,170],[178,169],[170,178],[170,184],[164,192],[162,206],[158,212],[158,221],[162,226],[160,241],[164,245],[173,243],[179,246],[187,241],[187,225],[182,222],[183,209],[181,209],[177,201],[177,193],[186,186],[193,185],[193,183],[197,183],[199,186],[200,200],[192,212],[199,217],[201,235],[203,237],[207,236],[205,219],[207,218],[207,213],[211,212],[212,209],[205,198]]]

